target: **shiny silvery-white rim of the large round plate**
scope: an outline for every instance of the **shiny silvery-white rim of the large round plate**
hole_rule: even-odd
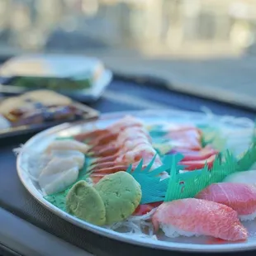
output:
[[[183,111],[183,110],[163,110],[164,113],[170,114],[171,112],[176,113],[185,113],[185,114],[193,114],[198,116],[205,116],[204,113],[197,112],[197,111]],[[116,111],[111,113],[102,114],[97,121],[102,120],[111,120],[116,119],[117,117],[125,116],[125,115],[140,115],[145,114],[147,112],[151,112],[154,114],[159,115],[159,110],[144,110],[144,111]],[[217,117],[217,115],[216,115]],[[239,117],[238,117],[239,118]],[[68,213],[60,210],[58,207],[52,205],[49,201],[46,201],[42,195],[40,195],[40,192],[37,191],[36,187],[31,187],[28,183],[26,183],[26,179],[24,177],[26,170],[24,170],[21,167],[21,160],[22,160],[22,154],[24,154],[24,149],[26,147],[29,147],[30,144],[33,143],[34,140],[40,140],[40,137],[44,137],[46,134],[53,135],[56,132],[59,132],[61,130],[71,128],[72,126],[79,126],[82,125],[84,121],[78,121],[73,123],[64,123],[59,126],[51,127],[50,129],[46,129],[41,131],[40,133],[34,135],[31,137],[31,139],[27,140],[25,145],[23,145],[23,148],[21,149],[20,154],[17,155],[17,174],[18,177],[21,180],[21,183],[26,188],[26,190],[31,194],[32,197],[36,199],[40,203],[40,205],[44,206],[47,210],[54,213],[56,216],[59,216],[60,218],[68,221],[69,223],[76,225],[80,228],[83,228],[84,230],[88,230],[92,233],[95,233],[97,235],[106,236],[110,239],[115,239],[116,241],[128,243],[128,244],[134,244],[138,246],[144,246],[147,248],[153,248],[153,249],[162,249],[162,250],[168,250],[168,251],[181,251],[181,252],[194,252],[194,253],[206,253],[206,252],[234,252],[234,251],[248,251],[252,249],[256,249],[256,242],[252,244],[248,243],[237,243],[237,244],[185,244],[185,243],[176,243],[176,242],[167,242],[167,241],[161,241],[161,240],[151,240],[151,239],[141,239],[137,236],[132,235],[125,235],[113,230],[107,230],[105,228],[99,227],[97,225],[92,225],[84,220],[80,220],[75,216],[71,216]],[[36,192],[35,192],[36,191]],[[37,195],[39,194],[39,195]]]

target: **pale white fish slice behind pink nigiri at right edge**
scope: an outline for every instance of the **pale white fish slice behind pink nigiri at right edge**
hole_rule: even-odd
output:
[[[230,174],[223,182],[252,184],[256,187],[256,170]]]

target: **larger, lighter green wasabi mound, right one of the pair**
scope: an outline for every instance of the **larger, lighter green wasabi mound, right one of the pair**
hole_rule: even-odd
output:
[[[107,175],[94,187],[105,204],[107,225],[125,220],[140,204],[140,184],[129,173]]]

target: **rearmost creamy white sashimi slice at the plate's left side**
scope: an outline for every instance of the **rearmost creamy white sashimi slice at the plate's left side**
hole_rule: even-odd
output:
[[[48,145],[46,152],[52,150],[77,150],[83,154],[88,153],[89,146],[77,140],[55,140]]]

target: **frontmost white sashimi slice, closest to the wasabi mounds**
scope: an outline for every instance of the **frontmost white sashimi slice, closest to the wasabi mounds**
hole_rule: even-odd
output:
[[[79,167],[72,159],[51,159],[40,173],[38,182],[46,194],[61,192],[73,184],[79,173]]]

